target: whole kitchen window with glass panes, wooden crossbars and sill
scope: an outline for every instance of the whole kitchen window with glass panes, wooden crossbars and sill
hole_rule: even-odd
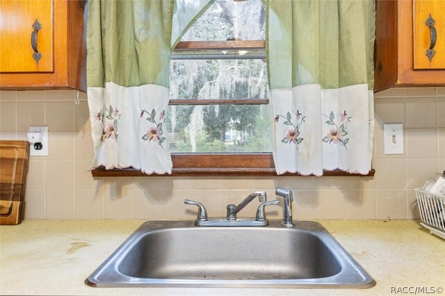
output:
[[[276,176],[265,40],[261,0],[216,0],[176,45],[166,116],[173,176]]]

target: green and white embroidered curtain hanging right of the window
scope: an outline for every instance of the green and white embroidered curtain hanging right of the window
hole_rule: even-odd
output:
[[[373,0],[269,0],[277,174],[367,174],[373,142]]]

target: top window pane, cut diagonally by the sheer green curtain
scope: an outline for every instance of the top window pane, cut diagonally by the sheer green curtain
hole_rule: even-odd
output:
[[[182,40],[265,40],[265,19],[266,7],[261,0],[216,0]]]

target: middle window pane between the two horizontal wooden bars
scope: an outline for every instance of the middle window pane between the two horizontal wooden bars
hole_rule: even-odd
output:
[[[170,99],[267,99],[264,60],[171,60]]]

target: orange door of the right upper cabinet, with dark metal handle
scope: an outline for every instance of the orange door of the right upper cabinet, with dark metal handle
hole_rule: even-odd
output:
[[[414,69],[445,69],[444,0],[414,0]]]

